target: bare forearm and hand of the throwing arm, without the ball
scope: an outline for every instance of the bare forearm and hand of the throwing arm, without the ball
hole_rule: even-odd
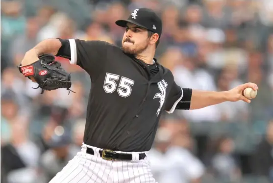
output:
[[[250,103],[250,100],[243,94],[244,90],[248,87],[252,88],[254,91],[258,90],[258,86],[250,82],[223,92],[193,90],[190,109],[199,109],[227,101],[244,101]]]

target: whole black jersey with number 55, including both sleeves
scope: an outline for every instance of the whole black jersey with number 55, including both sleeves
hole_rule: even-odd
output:
[[[91,78],[84,143],[114,151],[149,151],[162,111],[172,113],[183,97],[171,71],[156,59],[149,66],[107,42],[60,41],[57,56],[69,58]]]

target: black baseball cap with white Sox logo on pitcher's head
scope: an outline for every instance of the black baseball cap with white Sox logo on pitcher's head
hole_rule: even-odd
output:
[[[135,9],[127,20],[118,20],[116,25],[126,27],[127,23],[146,28],[154,33],[158,33],[159,37],[162,33],[162,21],[154,11],[148,8]]]

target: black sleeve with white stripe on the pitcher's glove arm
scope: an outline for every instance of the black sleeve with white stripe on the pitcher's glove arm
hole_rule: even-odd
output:
[[[96,79],[107,61],[110,44],[104,41],[84,41],[79,39],[59,39],[62,43],[56,56],[68,58],[71,64],[79,65]]]

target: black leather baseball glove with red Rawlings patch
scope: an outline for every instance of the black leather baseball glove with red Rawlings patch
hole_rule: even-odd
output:
[[[69,92],[71,87],[71,76],[64,69],[61,68],[61,64],[55,61],[55,57],[52,54],[45,54],[39,56],[39,60],[36,62],[18,67],[20,73],[25,77],[33,77],[39,84],[37,88],[42,88],[41,94],[45,90],[55,90],[58,88],[66,88]],[[73,92],[73,91],[72,91]]]

